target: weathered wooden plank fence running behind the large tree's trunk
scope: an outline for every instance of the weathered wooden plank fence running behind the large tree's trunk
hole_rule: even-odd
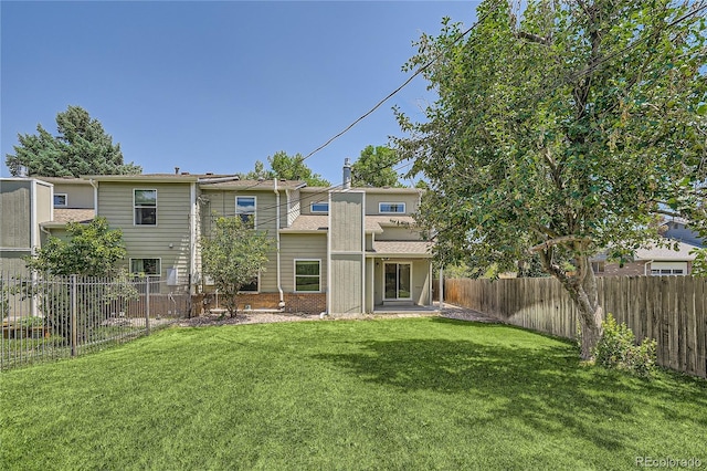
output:
[[[692,276],[597,279],[600,303],[636,338],[657,341],[659,365],[707,377],[707,280]],[[555,279],[445,280],[444,301],[508,324],[577,337],[577,308]]]

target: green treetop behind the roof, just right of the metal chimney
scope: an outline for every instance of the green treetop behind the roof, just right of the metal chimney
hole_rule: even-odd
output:
[[[402,187],[398,172],[395,150],[386,146],[366,146],[351,166],[351,185],[355,187]]]

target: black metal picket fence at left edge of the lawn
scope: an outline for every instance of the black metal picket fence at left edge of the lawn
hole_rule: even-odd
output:
[[[137,338],[191,310],[157,279],[0,273],[0,370],[74,357]]]

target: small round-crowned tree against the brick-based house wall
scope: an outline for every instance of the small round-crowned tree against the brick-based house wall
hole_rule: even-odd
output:
[[[238,295],[267,263],[273,240],[266,233],[250,228],[243,219],[217,219],[213,233],[201,239],[203,273],[213,279],[229,314],[238,312]]]

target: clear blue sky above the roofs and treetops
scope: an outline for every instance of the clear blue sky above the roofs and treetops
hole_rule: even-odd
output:
[[[1,175],[17,135],[78,105],[145,172],[249,171],[307,155],[400,86],[421,32],[471,25],[476,1],[12,2],[1,15]],[[307,160],[333,184],[345,157],[422,119],[416,77]]]

